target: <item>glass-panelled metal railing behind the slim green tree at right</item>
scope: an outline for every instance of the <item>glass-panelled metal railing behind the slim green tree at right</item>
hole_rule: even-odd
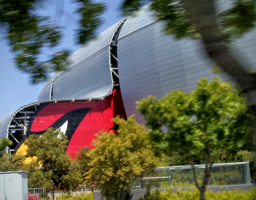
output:
[[[202,183],[205,165],[194,165],[197,181]],[[159,167],[136,183],[136,187],[167,188],[194,186],[192,166]],[[249,162],[213,164],[208,185],[249,184]]]

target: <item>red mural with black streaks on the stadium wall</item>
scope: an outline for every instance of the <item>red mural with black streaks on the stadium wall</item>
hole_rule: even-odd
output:
[[[82,146],[92,148],[92,139],[99,131],[114,131],[111,119],[117,115],[126,118],[120,90],[114,90],[103,100],[51,102],[42,105],[34,115],[28,135],[64,126],[69,140],[66,152],[74,157]]]

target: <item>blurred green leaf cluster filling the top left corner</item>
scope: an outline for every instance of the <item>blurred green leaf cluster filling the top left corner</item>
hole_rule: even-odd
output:
[[[52,70],[64,70],[68,54],[67,50],[53,56],[46,53],[45,49],[52,49],[58,44],[60,29],[50,17],[33,14],[37,1],[0,0],[0,25],[6,30],[15,65],[29,73],[33,83],[44,81]],[[42,54],[46,54],[45,59]],[[47,55],[50,57],[48,60]]]

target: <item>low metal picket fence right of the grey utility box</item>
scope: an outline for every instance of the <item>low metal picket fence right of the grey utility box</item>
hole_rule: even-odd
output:
[[[37,195],[39,199],[50,199],[55,200],[62,195],[77,197],[84,194],[89,194],[93,192],[94,186],[85,186],[82,185],[78,187],[75,191],[63,191],[57,189],[46,189],[46,188],[29,188],[28,193],[30,195]]]

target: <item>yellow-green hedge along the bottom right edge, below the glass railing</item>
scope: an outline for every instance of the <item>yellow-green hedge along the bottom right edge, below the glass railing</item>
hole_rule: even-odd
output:
[[[181,191],[177,190],[172,192],[171,188],[159,192],[150,192],[145,195],[142,200],[199,200],[200,193],[198,190]],[[212,191],[206,191],[205,200],[255,200],[256,188],[251,188],[248,191],[234,190],[234,191],[221,191],[214,193]]]

